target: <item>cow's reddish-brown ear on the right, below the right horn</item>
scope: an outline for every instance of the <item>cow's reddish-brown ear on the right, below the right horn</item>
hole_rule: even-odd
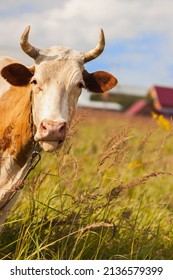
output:
[[[83,71],[83,79],[86,88],[89,91],[95,93],[102,93],[115,87],[117,79],[110,73],[105,71],[97,71],[94,73],[88,73],[86,70]]]

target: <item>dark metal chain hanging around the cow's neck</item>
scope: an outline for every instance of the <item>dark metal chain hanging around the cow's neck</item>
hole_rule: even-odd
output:
[[[35,140],[34,140],[35,131],[34,131],[34,122],[33,122],[32,95],[33,95],[33,92],[31,91],[30,92],[30,112],[29,112],[29,116],[28,116],[28,121],[30,124],[30,130],[32,133],[31,142],[34,144],[34,149],[30,156],[28,169],[26,170],[26,173],[24,174],[23,178],[20,181],[16,182],[14,185],[12,185],[12,188],[10,190],[6,191],[6,193],[4,194],[3,200],[5,202],[0,207],[0,211],[2,211],[8,205],[8,203],[16,195],[17,191],[23,189],[26,178],[28,177],[30,172],[36,167],[36,165],[39,163],[39,161],[41,160],[41,154],[40,154],[41,148],[39,146],[39,143],[35,142]]]

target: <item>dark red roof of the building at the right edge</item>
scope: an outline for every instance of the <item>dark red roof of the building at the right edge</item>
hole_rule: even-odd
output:
[[[162,107],[173,107],[173,88],[154,87]]]

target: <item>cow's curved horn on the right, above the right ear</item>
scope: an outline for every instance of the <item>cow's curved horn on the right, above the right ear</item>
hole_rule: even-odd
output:
[[[100,30],[100,38],[99,38],[99,42],[97,44],[97,46],[95,47],[95,49],[92,49],[90,51],[84,52],[84,56],[85,62],[88,62],[90,60],[95,59],[96,57],[98,57],[102,51],[104,50],[105,47],[105,36],[104,36],[104,32],[103,29]]]

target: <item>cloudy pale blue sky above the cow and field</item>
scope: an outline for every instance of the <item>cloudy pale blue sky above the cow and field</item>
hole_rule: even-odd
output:
[[[5,0],[0,5],[0,54],[25,65],[33,61],[20,49],[31,26],[30,42],[86,51],[103,28],[102,55],[86,64],[89,72],[109,71],[119,85],[173,87],[172,0]]]

